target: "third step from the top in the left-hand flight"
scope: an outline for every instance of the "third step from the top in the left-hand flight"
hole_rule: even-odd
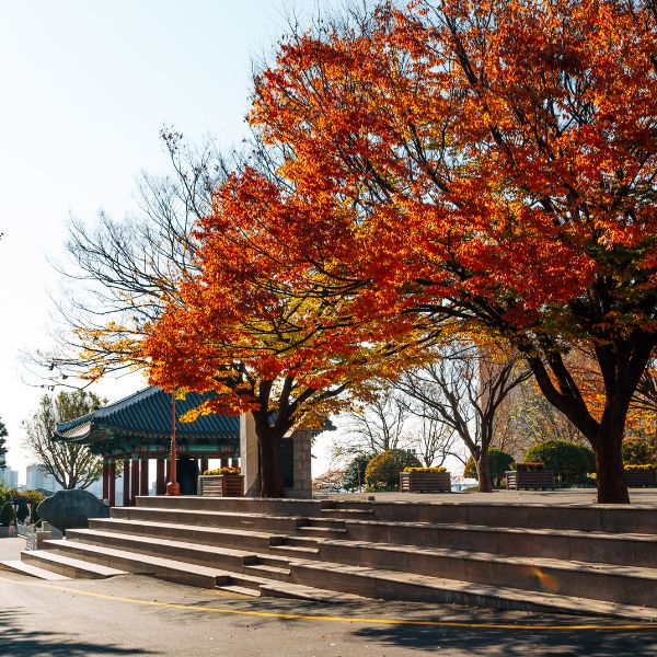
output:
[[[117,531],[120,533],[173,540],[184,537],[184,540],[189,543],[222,545],[265,553],[269,550],[270,545],[283,545],[286,541],[285,534],[255,530],[201,527],[175,522],[151,522],[148,520],[124,520],[118,518],[90,518],[89,528],[100,531]]]

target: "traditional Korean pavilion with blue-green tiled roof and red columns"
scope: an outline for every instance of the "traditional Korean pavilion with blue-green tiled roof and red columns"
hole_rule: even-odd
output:
[[[188,393],[175,401],[180,418],[208,399]],[[157,462],[157,495],[163,495],[171,469],[172,397],[162,389],[141,390],[103,408],[57,425],[56,440],[87,445],[102,456],[103,499],[116,504],[117,461],[123,462],[124,506],[135,504],[137,495],[149,494],[149,462]],[[208,459],[222,465],[237,464],[240,456],[240,418],[203,415],[193,423],[176,422],[176,479],[184,495],[196,493],[196,477],[207,470]]]

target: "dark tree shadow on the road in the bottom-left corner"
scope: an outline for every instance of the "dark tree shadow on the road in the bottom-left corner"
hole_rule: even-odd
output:
[[[66,612],[64,612],[66,613]],[[154,655],[141,648],[125,648],[108,643],[96,643],[70,633],[25,630],[26,612],[0,610],[0,656],[19,657],[93,657],[94,655]],[[33,619],[33,626],[38,621]]]

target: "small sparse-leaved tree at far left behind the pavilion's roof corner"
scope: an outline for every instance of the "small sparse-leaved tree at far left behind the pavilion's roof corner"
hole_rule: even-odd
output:
[[[83,445],[54,440],[57,425],[76,419],[106,403],[82,390],[45,394],[38,410],[23,422],[23,446],[34,454],[38,465],[66,489],[87,488],[101,476],[102,457],[92,454]]]

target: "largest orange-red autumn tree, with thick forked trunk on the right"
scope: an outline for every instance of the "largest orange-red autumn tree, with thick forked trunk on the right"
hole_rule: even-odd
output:
[[[621,442],[657,344],[656,34],[648,0],[383,2],[293,31],[250,115],[289,194],[323,208],[288,217],[288,258],[353,316],[511,343],[592,446],[604,503],[629,502]]]

